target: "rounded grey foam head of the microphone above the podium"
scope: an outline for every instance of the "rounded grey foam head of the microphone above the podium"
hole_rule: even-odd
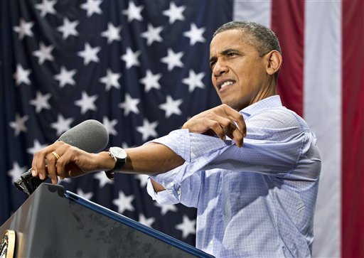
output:
[[[83,151],[97,153],[107,146],[109,134],[102,123],[90,119],[65,131],[58,141],[64,141]]]

